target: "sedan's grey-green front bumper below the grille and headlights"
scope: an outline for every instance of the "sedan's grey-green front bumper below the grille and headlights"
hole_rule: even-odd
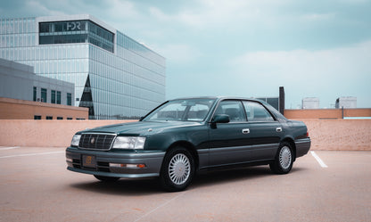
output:
[[[74,147],[66,150],[67,169],[104,177],[159,177],[164,156],[165,152],[100,152]],[[83,164],[87,157],[91,159],[89,165]],[[137,164],[144,164],[145,167],[126,167]]]

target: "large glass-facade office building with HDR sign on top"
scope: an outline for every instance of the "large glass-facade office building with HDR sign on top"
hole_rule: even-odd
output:
[[[165,100],[165,58],[91,15],[0,19],[0,58],[74,83],[90,119],[137,119]]]

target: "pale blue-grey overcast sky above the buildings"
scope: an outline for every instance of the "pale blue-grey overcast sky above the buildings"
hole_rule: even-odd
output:
[[[167,60],[167,99],[340,96],[371,107],[371,0],[12,0],[1,17],[89,13]]]

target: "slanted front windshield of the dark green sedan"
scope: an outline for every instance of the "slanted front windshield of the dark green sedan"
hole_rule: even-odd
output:
[[[203,121],[215,99],[183,99],[162,104],[143,121]]]

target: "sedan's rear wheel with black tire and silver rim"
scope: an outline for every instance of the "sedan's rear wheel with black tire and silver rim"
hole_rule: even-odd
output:
[[[276,174],[287,174],[293,168],[293,148],[289,143],[279,145],[276,160],[269,164],[270,169]]]

